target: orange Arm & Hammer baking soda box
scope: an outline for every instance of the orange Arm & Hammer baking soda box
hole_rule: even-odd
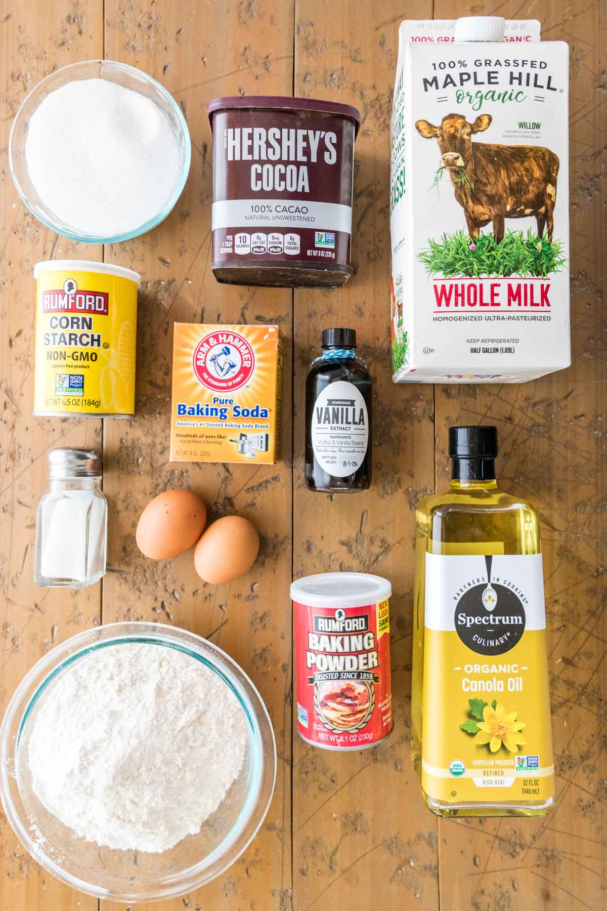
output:
[[[175,323],[172,462],[276,462],[281,398],[278,326]]]

